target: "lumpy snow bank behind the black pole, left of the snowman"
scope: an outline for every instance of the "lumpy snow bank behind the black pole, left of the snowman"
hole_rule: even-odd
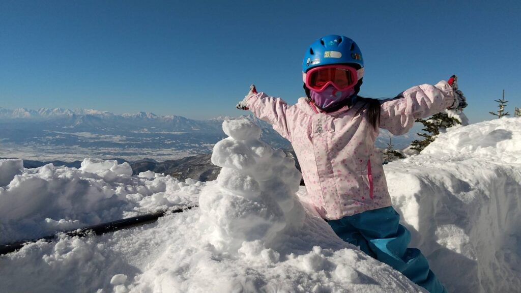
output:
[[[127,163],[81,165],[24,169],[21,160],[0,160],[0,245],[192,204],[202,188],[153,172],[131,177]]]

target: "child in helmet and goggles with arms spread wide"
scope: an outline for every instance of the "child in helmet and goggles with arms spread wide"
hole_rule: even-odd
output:
[[[465,97],[457,91],[453,76],[450,83],[423,84],[394,99],[366,99],[357,95],[363,75],[356,43],[345,36],[327,35],[304,56],[307,97],[288,106],[279,98],[257,93],[252,85],[237,107],[251,109],[291,142],[307,192],[340,238],[429,292],[445,292],[424,255],[407,248],[411,235],[391,206],[374,143],[379,128],[401,135],[416,118],[465,107]]]

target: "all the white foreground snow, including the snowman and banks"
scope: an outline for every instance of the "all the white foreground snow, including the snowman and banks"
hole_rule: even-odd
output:
[[[127,164],[24,169],[0,161],[0,244],[199,204],[157,223],[61,236],[0,256],[1,292],[418,292],[340,240],[307,203],[283,152],[245,120],[224,123],[216,181],[131,176]],[[393,204],[449,292],[521,288],[521,119],[440,135],[384,166]],[[294,196],[296,192],[297,197]]]

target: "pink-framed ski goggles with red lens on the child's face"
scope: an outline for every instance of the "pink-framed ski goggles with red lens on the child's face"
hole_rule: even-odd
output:
[[[339,91],[355,86],[364,75],[364,68],[356,70],[348,65],[325,65],[309,69],[302,74],[306,87],[315,92],[324,91],[329,85]]]

